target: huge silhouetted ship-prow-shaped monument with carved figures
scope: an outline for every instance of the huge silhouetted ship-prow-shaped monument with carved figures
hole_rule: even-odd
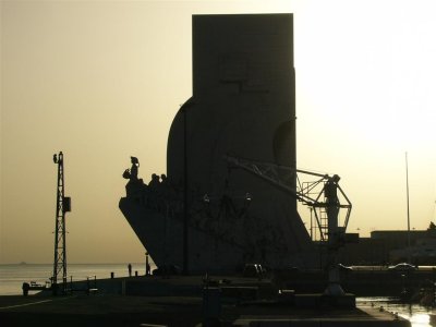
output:
[[[288,167],[295,190],[292,14],[194,15],[193,96],[168,137],[168,178],[124,172],[120,209],[157,266],[234,271],[314,265],[296,198],[229,157]],[[290,177],[290,178],[289,178]]]

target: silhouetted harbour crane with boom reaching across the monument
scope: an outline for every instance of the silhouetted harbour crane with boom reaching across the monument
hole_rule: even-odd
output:
[[[241,168],[254,175],[268,181],[283,190],[298,201],[307,205],[315,213],[315,219],[323,244],[328,249],[329,286],[325,293],[342,295],[343,290],[339,284],[339,269],[337,250],[344,244],[346,230],[351,214],[351,202],[339,185],[340,177],[337,174],[322,174],[317,172],[292,169],[271,162],[253,161],[249,159],[225,156],[229,168]],[[301,175],[315,177],[313,182],[301,182]],[[342,203],[341,203],[342,199]],[[339,223],[339,211],[346,209],[343,223]]]

